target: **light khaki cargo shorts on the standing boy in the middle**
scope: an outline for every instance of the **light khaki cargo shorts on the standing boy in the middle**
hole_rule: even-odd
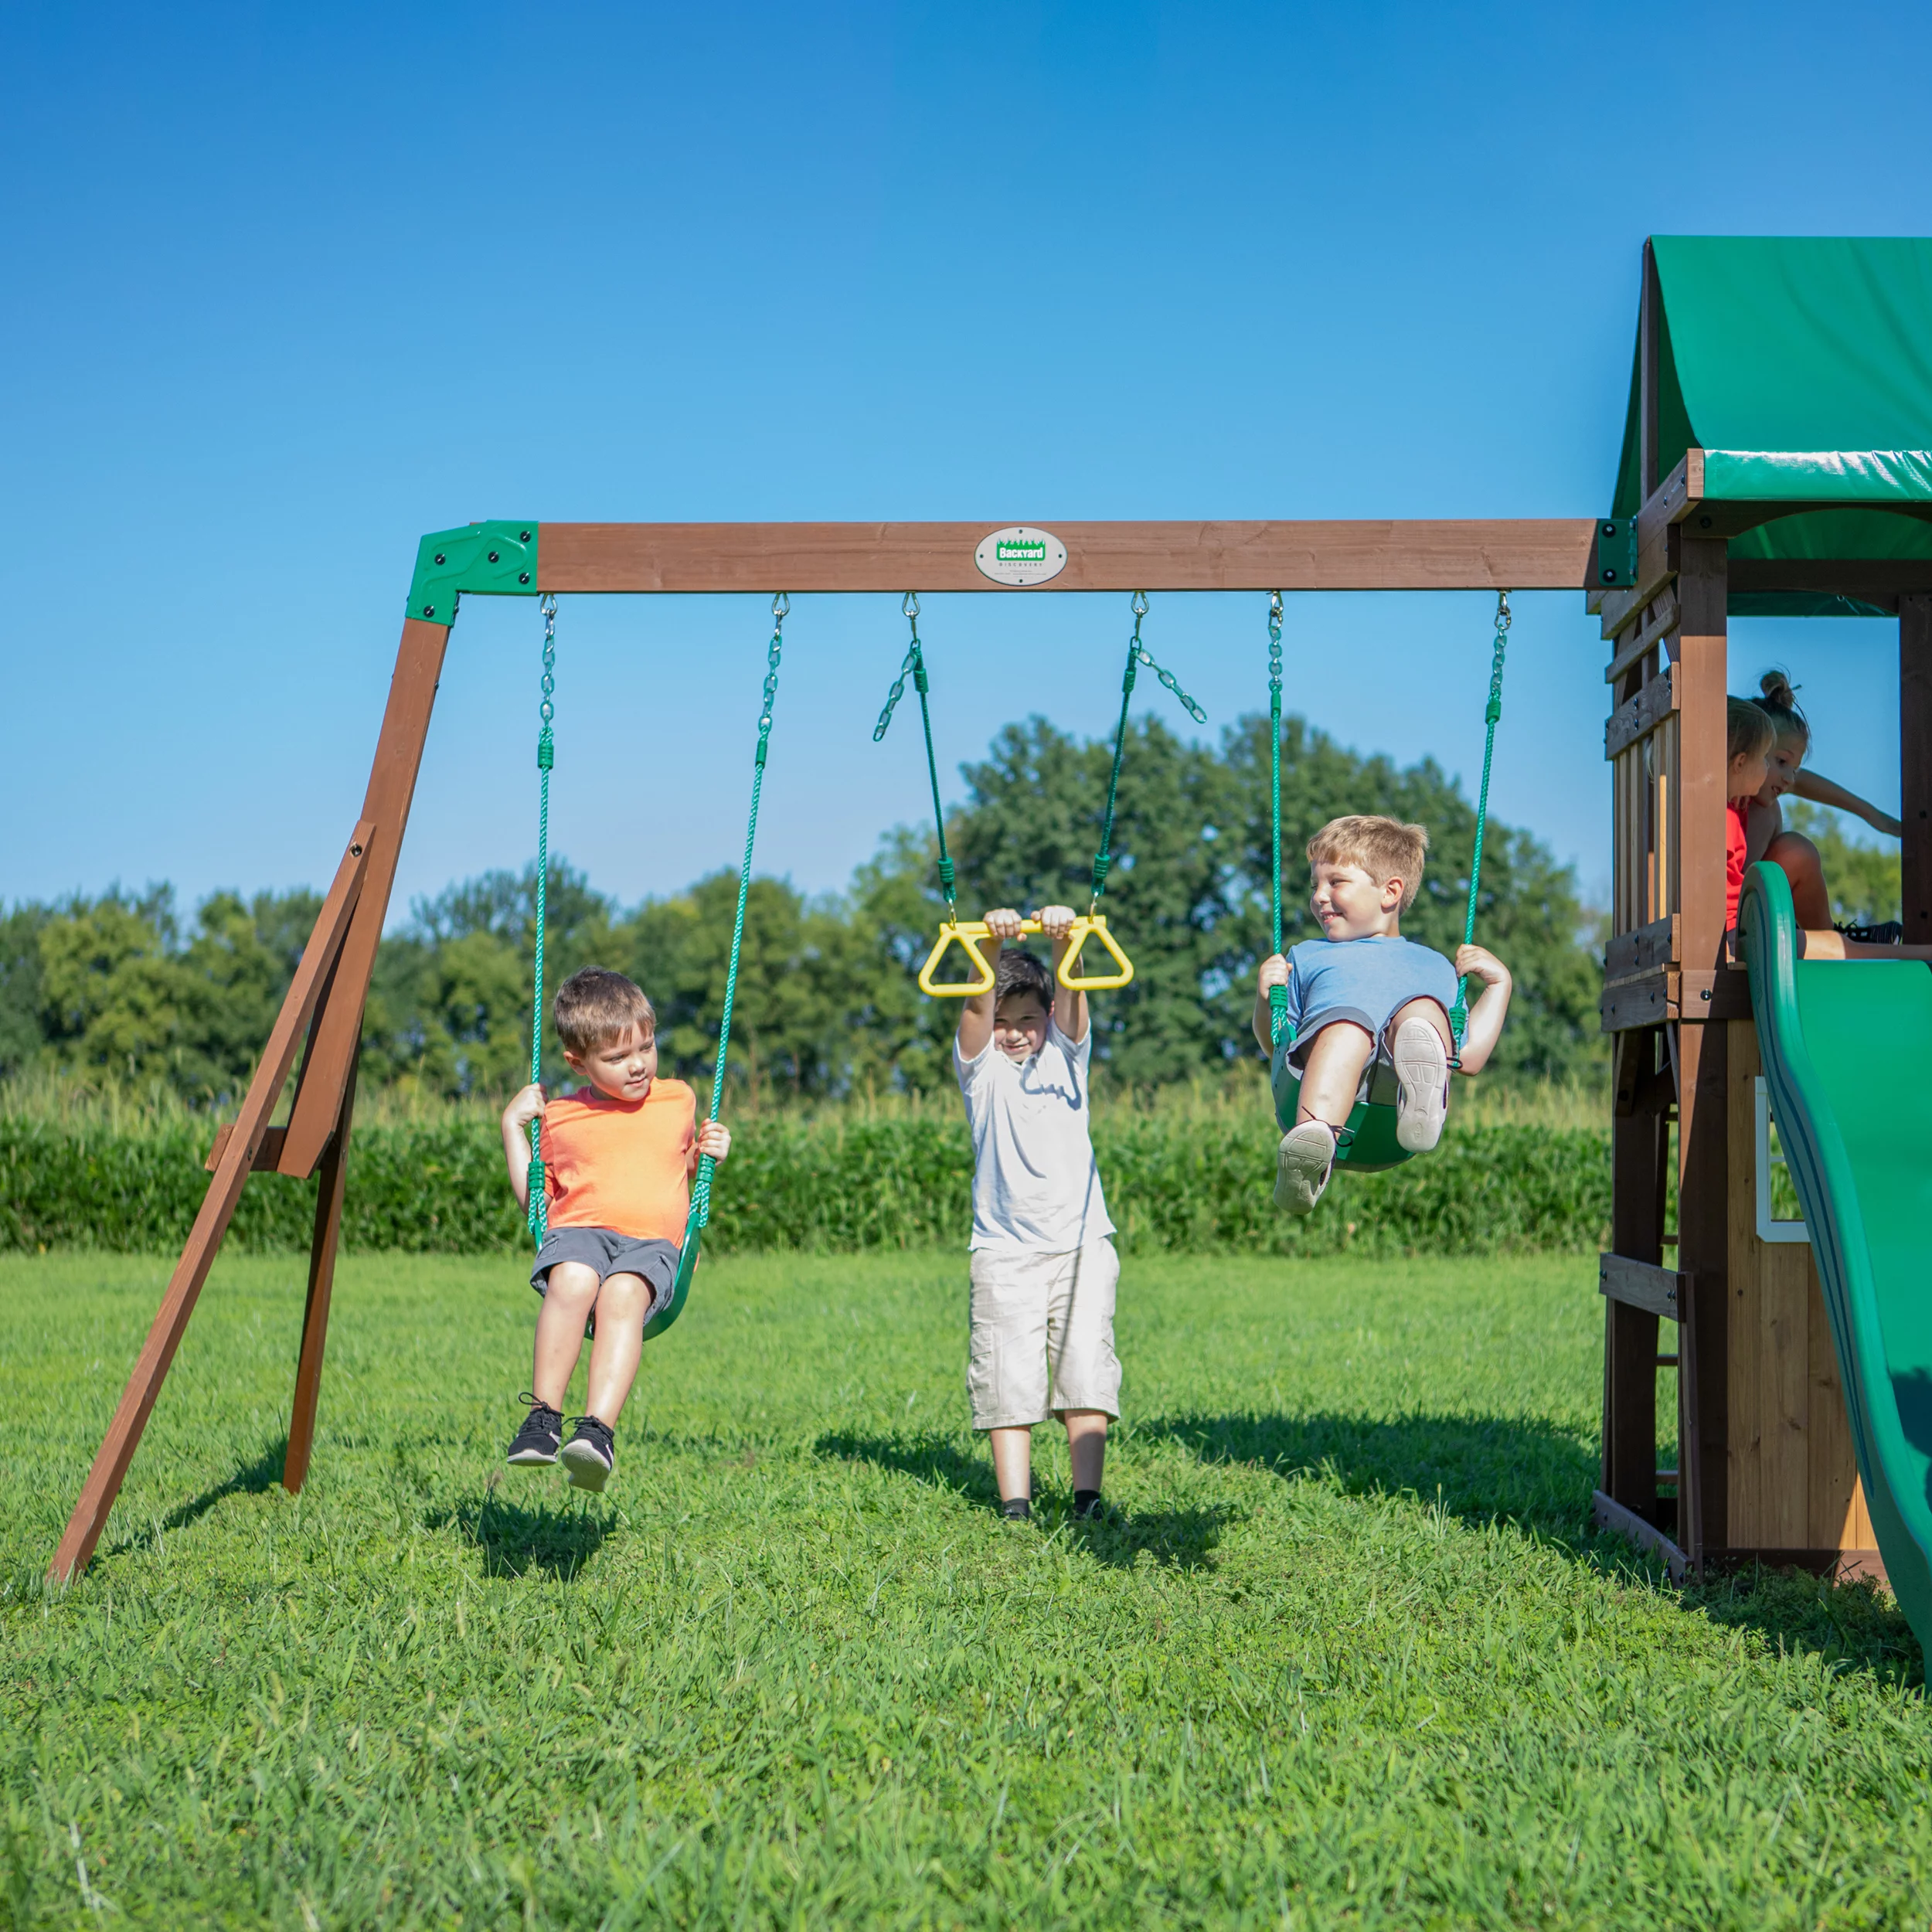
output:
[[[976,1430],[1016,1430],[1068,1408],[1121,1414],[1111,1240],[1065,1252],[978,1248],[966,1393]]]

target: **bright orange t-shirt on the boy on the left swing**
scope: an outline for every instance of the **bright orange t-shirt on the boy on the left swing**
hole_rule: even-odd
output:
[[[653,1080],[639,1101],[582,1088],[543,1109],[551,1227],[609,1227],[632,1240],[684,1240],[697,1095]]]

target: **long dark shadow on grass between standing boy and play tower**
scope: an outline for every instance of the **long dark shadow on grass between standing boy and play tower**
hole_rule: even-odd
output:
[[[1204,1463],[1300,1476],[1331,1468],[1349,1493],[1405,1492],[1464,1522],[1492,1519],[1577,1546],[1588,1534],[1596,1457],[1534,1416],[1179,1414],[1134,1424],[1136,1441],[1179,1443]]]

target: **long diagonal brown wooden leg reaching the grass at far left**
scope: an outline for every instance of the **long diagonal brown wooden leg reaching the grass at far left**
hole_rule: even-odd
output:
[[[242,1101],[234,1132],[222,1148],[209,1192],[201,1198],[201,1211],[189,1229],[182,1258],[174,1264],[174,1275],[160,1298],[155,1325],[147,1333],[147,1343],[128,1378],[128,1387],[122,1391],[108,1434],[87,1472],[87,1482],[81,1486],[81,1497],[68,1519],[66,1534],[54,1551],[48,1575],[56,1582],[71,1582],[87,1567],[87,1559],[95,1553],[95,1544],[106,1528],[108,1511],[114,1507],[114,1497],[120,1495],[128,1464],[133,1461],[141,1432],[155,1408],[155,1397],[160,1395],[160,1383],[174,1362],[174,1350],[182,1345],[182,1333],[187,1327],[187,1318],[195,1312],[201,1285],[209,1279],[209,1267],[214,1265],[214,1254],[222,1244],[222,1235],[228,1233],[236,1202],[242,1200],[242,1184],[255,1165],[269,1115],[274,1113],[274,1105],[282,1097],[288,1070],[296,1063],[296,1049],[301,1045],[301,1032],[309,1024],[323,985],[342,951],[344,935],[359,902],[373,835],[375,829],[367,819],[357,825],[342,862],[336,866],[334,883],[323,900],[315,931],[309,933],[309,943],[303,947],[301,964],[296,968],[274,1030],[269,1034],[269,1045],[255,1066],[255,1078]]]

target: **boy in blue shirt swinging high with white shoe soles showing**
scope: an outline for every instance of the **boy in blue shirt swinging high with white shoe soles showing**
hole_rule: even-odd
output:
[[[1308,840],[1312,906],[1321,939],[1262,960],[1254,1037],[1283,1053],[1302,1076],[1294,1126],[1281,1136],[1275,1204],[1310,1213],[1335,1167],[1335,1136],[1378,1065],[1395,1072],[1395,1138],[1424,1153],[1441,1138],[1449,1107],[1455,1034],[1449,1009],[1457,978],[1480,980],[1468,1012],[1461,1068],[1480,1072],[1509,1012],[1509,968],[1482,947],[1461,947],[1455,964],[1403,939],[1401,918],[1422,885],[1430,835],[1401,819],[1329,819]],[[1289,989],[1287,1028],[1271,1043],[1269,987]]]

